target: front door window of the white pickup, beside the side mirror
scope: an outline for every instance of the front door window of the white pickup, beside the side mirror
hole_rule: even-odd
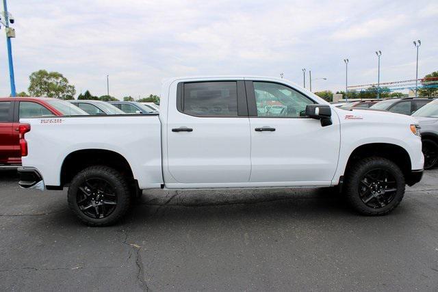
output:
[[[313,104],[307,96],[277,83],[254,82],[254,90],[259,117],[298,118]]]

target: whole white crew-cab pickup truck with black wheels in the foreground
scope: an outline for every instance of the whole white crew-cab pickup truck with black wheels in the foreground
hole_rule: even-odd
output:
[[[143,189],[342,187],[365,215],[420,181],[414,118],[338,109],[285,79],[163,83],[159,114],[21,120],[21,187],[62,189],[86,224],[120,219]]]

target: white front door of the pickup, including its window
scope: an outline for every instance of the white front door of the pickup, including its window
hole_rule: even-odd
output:
[[[280,83],[246,81],[251,135],[250,182],[330,185],[339,157],[339,120],[322,127],[305,116],[311,98]],[[252,104],[250,104],[252,103]]]

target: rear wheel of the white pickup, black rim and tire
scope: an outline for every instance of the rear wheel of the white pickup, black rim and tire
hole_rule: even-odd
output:
[[[82,170],[68,188],[68,206],[90,226],[108,226],[120,220],[130,199],[125,176],[105,165]]]

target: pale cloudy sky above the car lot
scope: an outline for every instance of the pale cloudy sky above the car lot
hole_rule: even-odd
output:
[[[1,10],[1,5],[0,5]],[[144,97],[162,79],[188,75],[265,75],[312,90],[344,90],[415,79],[413,40],[422,40],[419,77],[438,70],[438,1],[9,0],[17,92],[29,75],[61,72],[77,94]],[[323,80],[320,78],[326,78]],[[0,29],[0,96],[10,83]]]

